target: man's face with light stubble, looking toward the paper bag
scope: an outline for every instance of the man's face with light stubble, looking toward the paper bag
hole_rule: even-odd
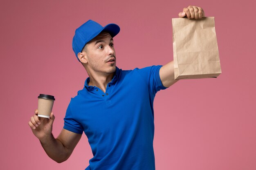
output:
[[[109,75],[116,71],[114,43],[109,33],[100,33],[81,53],[85,56],[84,66],[88,72]]]

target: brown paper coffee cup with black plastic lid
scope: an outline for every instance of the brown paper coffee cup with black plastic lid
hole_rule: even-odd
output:
[[[50,118],[54,100],[52,95],[40,94],[38,96],[38,117]]]

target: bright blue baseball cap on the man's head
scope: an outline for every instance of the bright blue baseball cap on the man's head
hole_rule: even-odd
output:
[[[75,35],[73,37],[72,41],[72,47],[73,51],[76,55],[77,60],[80,62],[77,54],[80,53],[83,50],[83,47],[86,43],[88,43],[90,40],[95,38],[99,33],[102,31],[107,31],[110,33],[111,37],[115,37],[119,31],[120,27],[117,24],[108,24],[106,26],[101,26],[99,23],[88,20],[83,25],[81,25],[78,29],[75,31]]]

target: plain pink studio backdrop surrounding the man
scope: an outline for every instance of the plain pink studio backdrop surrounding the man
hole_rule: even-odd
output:
[[[173,60],[171,18],[188,5],[214,16],[222,74],[181,80],[155,98],[157,170],[256,169],[256,2],[243,0],[9,0],[0,5],[1,170],[83,170],[92,152],[83,135],[70,159],[44,152],[28,121],[40,93],[56,97],[53,134],[88,76],[72,51],[75,29],[89,19],[116,23],[117,66]]]

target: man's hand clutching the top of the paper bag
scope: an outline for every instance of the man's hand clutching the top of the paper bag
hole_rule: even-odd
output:
[[[201,19],[202,17],[204,17],[204,10],[201,7],[189,5],[189,7],[183,9],[183,12],[179,13],[179,17],[187,17],[189,19]]]

